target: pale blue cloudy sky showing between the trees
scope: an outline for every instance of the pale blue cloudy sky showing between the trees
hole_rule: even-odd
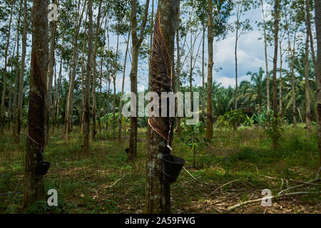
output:
[[[268,9],[265,5],[265,9]],[[253,31],[244,34],[240,37],[238,41],[238,83],[244,80],[250,80],[250,76],[247,76],[248,71],[258,72],[260,67],[265,69],[265,51],[264,51],[264,40],[263,31],[259,31],[255,21],[262,21],[262,9],[254,9],[249,11],[243,19],[252,18]],[[231,16],[229,23],[235,21],[235,16]],[[208,58],[208,43],[207,34],[205,34],[205,61]],[[189,40],[189,37],[188,37]],[[195,49],[198,48],[201,38],[195,44]],[[116,37],[111,37],[111,45],[116,46]],[[125,53],[125,44],[121,47],[123,53]],[[235,88],[235,33],[229,32],[225,39],[221,41],[215,41],[214,50],[214,68],[221,68],[221,71],[213,70],[213,81],[221,83],[222,86],[228,88],[232,86]],[[201,51],[201,48],[200,48]],[[195,50],[196,52],[196,50]],[[272,70],[272,57],[274,53],[274,47],[267,48],[267,54],[269,56],[269,70]],[[201,53],[200,53],[201,54]],[[201,68],[201,62],[196,63],[199,68]],[[138,90],[145,90],[148,87],[148,64],[146,61],[140,61],[138,64]],[[126,68],[126,78],[125,78],[125,92],[131,90],[131,83],[129,74],[131,72],[131,62],[128,60]],[[122,73],[119,73],[116,81],[116,90],[121,90],[122,83]],[[205,66],[205,82],[207,77],[207,67]],[[195,76],[194,83],[196,85],[202,85],[202,78],[200,76]],[[185,85],[186,86],[186,85]]]

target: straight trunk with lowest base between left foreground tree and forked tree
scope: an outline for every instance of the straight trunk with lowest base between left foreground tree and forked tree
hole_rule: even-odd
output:
[[[90,132],[90,93],[93,55],[93,0],[88,0],[88,59],[86,72],[86,101],[85,116],[83,123],[83,152],[89,153],[89,132]]]

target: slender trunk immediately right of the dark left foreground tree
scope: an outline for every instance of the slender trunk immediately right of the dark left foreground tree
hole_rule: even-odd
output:
[[[57,0],[52,0],[53,4],[57,4]],[[46,141],[48,143],[49,140],[49,129],[50,129],[50,109],[52,105],[52,81],[54,77],[54,63],[55,63],[55,46],[56,46],[56,21],[50,21],[50,53],[49,53],[49,66],[47,73],[47,94],[46,94],[46,119],[45,119],[45,130],[46,130]]]

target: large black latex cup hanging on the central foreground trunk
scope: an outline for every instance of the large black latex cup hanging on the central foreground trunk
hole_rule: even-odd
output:
[[[163,175],[165,180],[170,183],[175,182],[183,165],[185,165],[183,158],[174,155],[163,155]]]

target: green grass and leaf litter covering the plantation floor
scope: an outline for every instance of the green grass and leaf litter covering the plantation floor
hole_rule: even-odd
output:
[[[51,136],[44,160],[51,162],[45,176],[45,192],[58,191],[58,207],[37,202],[29,213],[142,213],[146,177],[146,129],[138,130],[138,158],[128,162],[128,138],[113,140],[111,132],[98,133],[91,152],[81,152],[78,128],[65,142],[62,131]],[[215,130],[208,147],[193,152],[178,139],[173,154],[183,157],[188,172],[182,171],[171,185],[173,213],[224,213],[228,207],[262,197],[263,189],[277,194],[287,186],[315,179],[317,135],[303,126],[285,127],[277,150],[260,129]],[[0,213],[22,213],[24,148],[26,135],[15,145],[9,132],[0,136]],[[193,179],[193,177],[197,179]],[[115,184],[116,183],[116,184]],[[308,186],[312,195],[278,199],[273,207],[248,204],[232,213],[320,213],[320,182]],[[298,188],[297,191],[303,188]],[[307,190],[307,187],[305,187]],[[294,192],[296,190],[293,190]]]

